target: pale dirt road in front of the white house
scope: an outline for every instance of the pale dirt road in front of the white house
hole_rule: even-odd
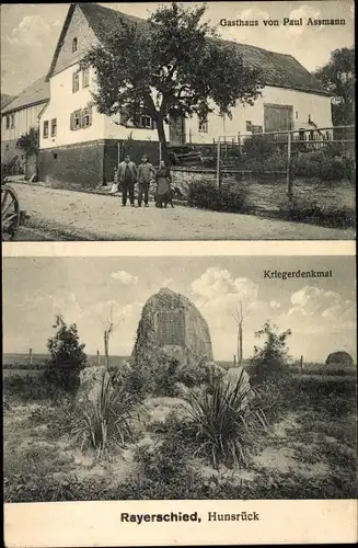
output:
[[[14,183],[28,215],[19,239],[28,240],[349,240],[353,229],[332,229],[175,206],[120,207],[118,196]],[[34,238],[32,238],[32,235]]]

